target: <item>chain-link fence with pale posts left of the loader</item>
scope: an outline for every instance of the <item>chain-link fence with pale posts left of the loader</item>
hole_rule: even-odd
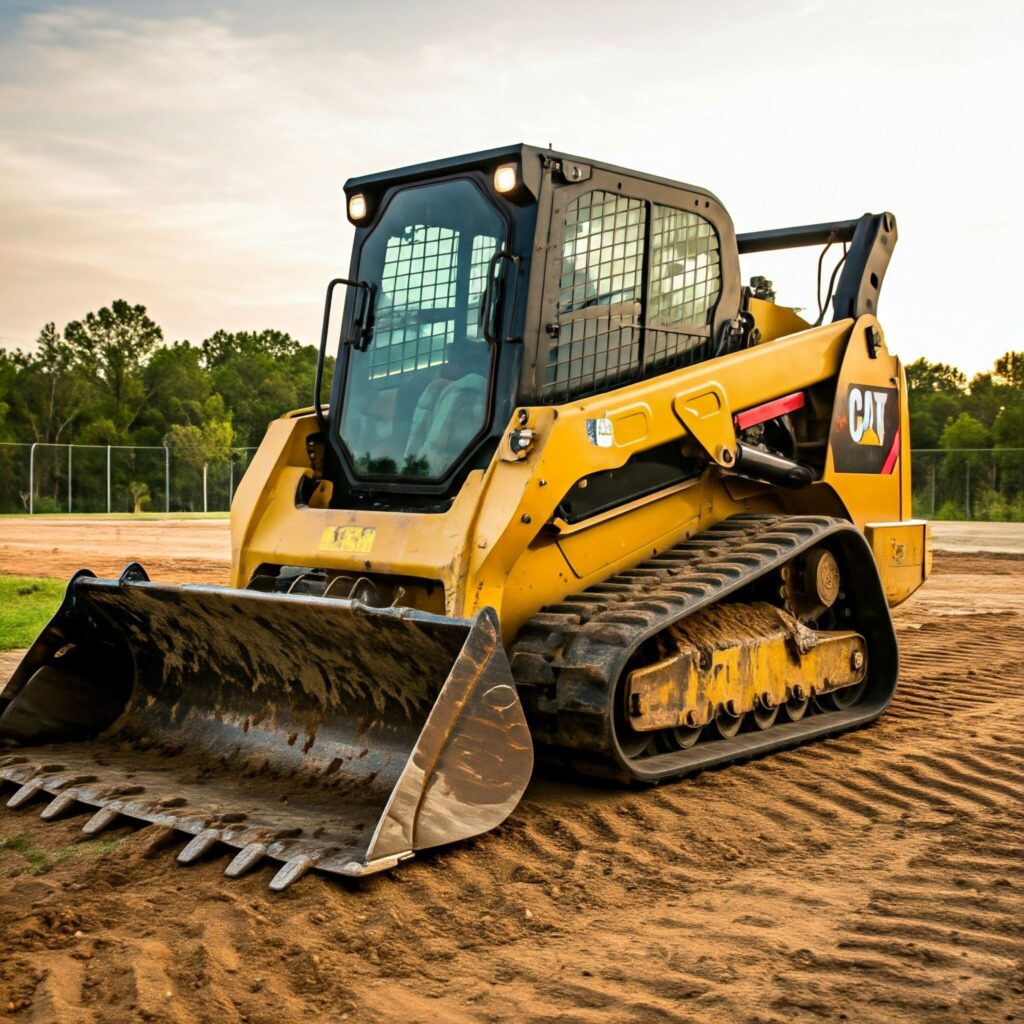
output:
[[[226,512],[255,451],[197,465],[165,445],[0,442],[0,513]]]

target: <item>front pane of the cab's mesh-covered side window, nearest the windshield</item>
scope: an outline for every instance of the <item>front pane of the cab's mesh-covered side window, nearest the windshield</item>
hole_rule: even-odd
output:
[[[646,211],[640,200],[605,191],[565,211],[558,337],[544,388],[552,397],[598,390],[640,366],[640,310]]]

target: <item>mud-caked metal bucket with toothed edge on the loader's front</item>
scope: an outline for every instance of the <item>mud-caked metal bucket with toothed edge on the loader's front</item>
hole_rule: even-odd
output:
[[[359,876],[494,828],[532,748],[497,618],[78,573],[0,693],[8,806],[94,808],[240,874]]]

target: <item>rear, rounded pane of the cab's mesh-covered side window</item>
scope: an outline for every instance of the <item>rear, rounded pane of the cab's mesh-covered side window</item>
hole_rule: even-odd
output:
[[[654,206],[645,362],[683,366],[708,358],[721,290],[718,236],[699,214]]]

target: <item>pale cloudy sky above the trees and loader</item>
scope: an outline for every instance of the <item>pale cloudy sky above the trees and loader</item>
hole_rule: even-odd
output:
[[[0,344],[115,298],[318,337],[342,182],[509,142],[714,191],[738,231],[896,214],[890,347],[1024,349],[1024,3],[0,0]],[[817,250],[744,258],[811,305]]]

